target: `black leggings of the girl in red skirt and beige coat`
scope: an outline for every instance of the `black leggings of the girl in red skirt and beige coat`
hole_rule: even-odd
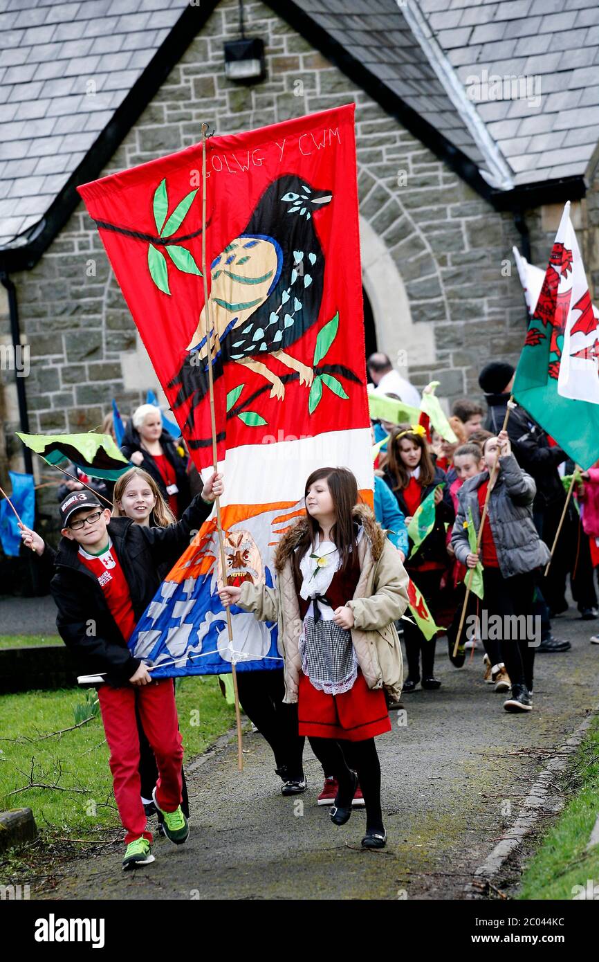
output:
[[[343,806],[351,801],[347,798],[352,786],[350,769],[357,773],[366,806],[366,829],[382,831],[381,765],[374,739],[348,742],[345,739],[309,738],[308,741],[324,771],[337,778],[339,801]]]

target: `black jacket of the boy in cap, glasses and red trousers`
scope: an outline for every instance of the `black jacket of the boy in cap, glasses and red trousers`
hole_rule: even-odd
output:
[[[158,567],[172,567],[186,550],[191,532],[208,518],[211,506],[198,495],[183,518],[165,528],[142,527],[130,518],[113,518],[108,525],[114,550],[127,579],[136,620],[156,594]],[[79,544],[62,538],[57,552],[46,545],[42,558],[54,560],[56,573],[50,592],[58,608],[56,620],[62,641],[74,655],[80,674],[106,671],[106,681],[127,683],[139,666],[121,635],[97,578],[78,558]]]

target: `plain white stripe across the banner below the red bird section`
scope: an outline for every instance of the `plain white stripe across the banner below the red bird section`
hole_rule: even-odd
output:
[[[270,435],[270,439],[267,443],[231,448],[225,461],[218,463],[218,470],[225,475],[221,505],[299,501],[304,496],[308,475],[318,468],[349,468],[356,475],[358,488],[372,491],[369,427],[327,431],[310,438],[287,436],[287,440]],[[202,471],[205,480],[211,474],[212,468]]]

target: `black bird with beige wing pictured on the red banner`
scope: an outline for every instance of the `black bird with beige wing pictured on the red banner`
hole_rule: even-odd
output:
[[[300,384],[312,384],[313,371],[287,353],[315,324],[324,286],[325,259],[313,215],[333,199],[289,174],[262,193],[247,226],[212,261],[210,293],[212,376],[234,361],[261,374],[270,396],[283,399],[285,385],[265,363],[268,356],[297,371]],[[169,387],[178,389],[175,407],[194,409],[208,392],[206,306],[187,345],[187,355]]]

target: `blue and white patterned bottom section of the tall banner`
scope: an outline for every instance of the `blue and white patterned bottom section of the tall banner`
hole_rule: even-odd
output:
[[[268,569],[265,583],[272,587]],[[225,674],[232,670],[233,658],[237,671],[283,668],[277,625],[257,621],[237,605],[231,608],[231,651],[227,618],[218,595],[212,595],[213,586],[212,572],[187,581],[162,582],[129,641],[132,654],[146,664],[168,663],[154,669],[153,678]]]

